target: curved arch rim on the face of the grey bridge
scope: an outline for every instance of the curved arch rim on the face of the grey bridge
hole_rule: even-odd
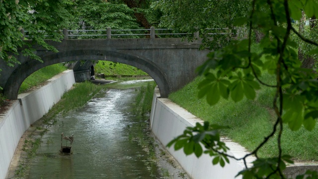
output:
[[[78,61],[78,60],[105,60],[119,62],[137,67],[149,74],[157,83],[161,97],[167,97],[172,90],[171,82],[167,75],[158,65],[151,60],[110,50],[69,50],[58,53],[45,52],[43,55],[38,54],[43,63],[36,60],[26,60],[25,63],[19,65],[8,78],[7,84],[3,88],[3,94],[9,99],[17,99],[18,90],[22,82],[37,70],[62,62]]]

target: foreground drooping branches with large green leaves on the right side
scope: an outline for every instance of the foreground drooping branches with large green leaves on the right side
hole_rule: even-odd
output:
[[[241,41],[232,40],[226,47],[208,55],[209,59],[198,68],[198,73],[205,77],[198,86],[199,97],[206,97],[207,102],[214,105],[221,97],[231,98],[235,102],[244,97],[253,100],[257,89],[273,88],[272,108],[276,120],[272,131],[254,150],[240,159],[228,155],[229,148],[220,140],[219,130],[224,126],[208,122],[188,127],[168,146],[174,145],[175,150],[183,148],[186,155],[194,153],[200,157],[203,153],[209,154],[214,157],[212,163],[222,167],[229,163],[229,158],[243,160],[245,169],[238,174],[243,179],[284,179],[286,164],[293,164],[292,156],[283,155],[281,148],[284,128],[297,131],[304,126],[310,131],[315,128],[318,119],[318,73],[316,69],[302,68],[295,50],[298,48],[295,39],[316,46],[310,52],[312,54],[317,54],[318,44],[302,36],[295,29],[292,19],[300,19],[302,12],[309,17],[317,16],[318,1],[251,0],[249,5],[249,13],[234,21],[235,26],[247,25],[249,37]],[[251,33],[255,28],[264,34],[258,44],[262,51],[258,53],[251,51]],[[266,73],[272,76],[274,83],[262,81],[261,77]],[[277,139],[277,156],[260,158],[258,151],[271,138]],[[246,158],[251,155],[256,160],[252,167],[248,167]],[[316,172],[308,171],[306,174],[317,178]],[[304,175],[299,178],[304,178]]]

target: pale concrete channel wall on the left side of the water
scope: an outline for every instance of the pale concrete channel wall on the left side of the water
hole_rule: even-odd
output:
[[[30,93],[19,94],[19,100],[0,116],[0,179],[5,179],[24,131],[46,114],[74,83],[73,70],[67,70],[50,79],[47,85]]]

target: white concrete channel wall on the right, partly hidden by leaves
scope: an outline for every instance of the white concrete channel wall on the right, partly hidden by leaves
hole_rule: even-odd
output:
[[[196,122],[203,122],[192,115],[184,108],[178,106],[167,98],[159,98],[159,89],[155,89],[153,106],[150,115],[150,124],[152,132],[158,138],[163,146],[166,146],[173,138],[183,133],[188,126],[194,126]],[[225,141],[230,148],[228,154],[237,158],[243,157],[246,152],[239,144]],[[234,179],[239,171],[244,169],[242,161],[230,159],[230,164],[224,168],[220,165],[212,165],[213,158],[203,154],[197,158],[194,154],[186,156],[183,149],[174,151],[173,147],[166,148],[169,153],[178,161],[185,172],[192,179]],[[249,158],[248,162],[254,160]],[[250,165],[250,164],[249,164]],[[241,177],[237,177],[240,179]]]

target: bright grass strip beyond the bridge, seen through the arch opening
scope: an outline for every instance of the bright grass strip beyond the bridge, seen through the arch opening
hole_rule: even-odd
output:
[[[105,75],[148,75],[146,72],[136,67],[109,61],[98,61],[94,70],[95,73],[103,73]]]

